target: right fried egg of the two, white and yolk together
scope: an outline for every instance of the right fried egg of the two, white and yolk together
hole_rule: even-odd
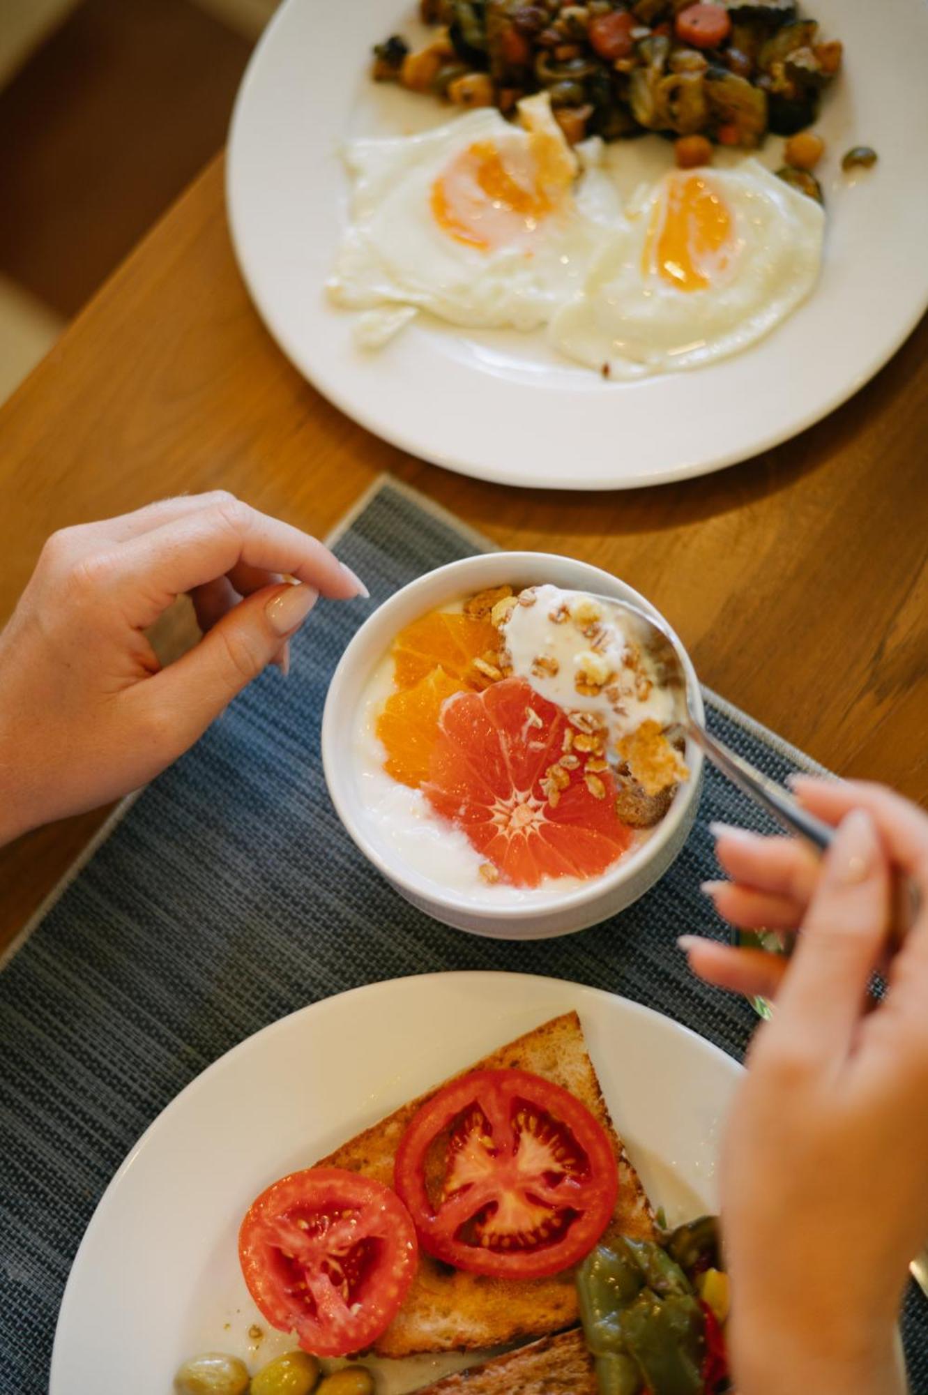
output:
[[[619,378],[738,353],[810,294],[823,229],[821,205],[754,159],[673,170],[633,199],[550,339]]]

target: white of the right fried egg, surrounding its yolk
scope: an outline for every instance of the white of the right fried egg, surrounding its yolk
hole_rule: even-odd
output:
[[[733,219],[729,264],[698,290],[645,271],[648,233],[667,174],[628,208],[628,222],[596,255],[577,296],[552,318],[557,350],[616,378],[694,368],[738,353],[783,321],[812,290],[825,216],[754,159],[705,170]]]

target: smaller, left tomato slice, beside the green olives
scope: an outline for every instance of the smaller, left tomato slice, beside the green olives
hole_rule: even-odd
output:
[[[272,1327],[295,1332],[314,1356],[346,1356],[369,1346],[396,1317],[418,1244],[389,1187],[340,1168],[307,1168],[252,1201],[238,1260]]]

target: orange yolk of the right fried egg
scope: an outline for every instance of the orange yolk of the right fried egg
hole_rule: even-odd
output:
[[[704,174],[672,176],[645,239],[644,275],[677,290],[705,290],[736,250],[732,213]]]

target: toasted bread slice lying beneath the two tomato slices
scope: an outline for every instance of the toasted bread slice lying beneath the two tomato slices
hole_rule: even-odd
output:
[[[631,1166],[621,1140],[613,1129],[602,1098],[596,1071],[587,1053],[577,1013],[566,1013],[534,1032],[520,1036],[475,1062],[453,1078],[472,1070],[513,1067],[562,1085],[580,1099],[603,1126],[612,1140],[619,1166],[619,1200],[606,1235],[621,1233],[651,1239],[654,1215],[638,1175]],[[325,1168],[347,1168],[393,1184],[393,1159],[412,1115],[440,1089],[428,1091],[403,1105],[373,1129],[358,1134],[327,1158]],[[380,1356],[412,1356],[415,1352],[479,1350],[504,1346],[520,1338],[543,1336],[571,1327],[577,1321],[574,1271],[564,1269],[549,1279],[490,1279],[464,1274],[439,1264],[428,1254],[407,1299],[390,1327],[373,1345]]]

